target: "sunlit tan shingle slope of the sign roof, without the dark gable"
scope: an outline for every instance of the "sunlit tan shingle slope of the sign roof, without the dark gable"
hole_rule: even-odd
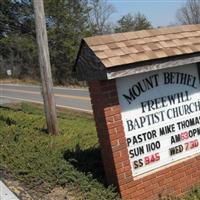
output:
[[[106,68],[200,52],[200,24],[85,38]]]

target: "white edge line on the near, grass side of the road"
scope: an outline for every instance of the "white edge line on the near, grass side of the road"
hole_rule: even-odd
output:
[[[0,96],[0,98],[14,99],[14,100],[19,100],[19,101],[27,101],[27,102],[31,102],[31,103],[43,104],[43,102],[41,102],[41,101],[35,101],[35,100],[29,100],[29,99],[23,99],[23,98],[16,98],[16,97]],[[71,107],[71,106],[63,106],[63,105],[59,105],[59,104],[56,104],[56,107],[58,107],[58,108],[67,108],[67,109],[72,109],[72,110],[77,110],[77,111],[82,111],[82,112],[86,112],[86,113],[92,114],[91,110],[82,109],[82,108],[76,108],[76,107]]]

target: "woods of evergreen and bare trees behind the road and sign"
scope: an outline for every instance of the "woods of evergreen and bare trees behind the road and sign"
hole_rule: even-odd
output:
[[[200,4],[188,0],[177,11],[177,23],[199,23]],[[81,38],[152,28],[143,13],[128,13],[116,22],[118,12],[106,0],[45,0],[45,15],[54,83],[78,84],[72,68]],[[188,18],[189,17],[189,18]],[[0,2],[0,78],[39,80],[37,45],[31,0]]]

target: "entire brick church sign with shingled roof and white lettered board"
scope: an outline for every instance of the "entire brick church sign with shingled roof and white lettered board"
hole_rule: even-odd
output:
[[[107,184],[124,200],[200,185],[200,25],[84,38],[86,80]]]

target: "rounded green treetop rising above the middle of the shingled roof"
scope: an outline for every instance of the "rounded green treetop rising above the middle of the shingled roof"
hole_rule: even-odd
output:
[[[137,31],[152,28],[151,23],[141,13],[136,15],[127,14],[118,20],[118,26],[115,28],[115,32],[128,32]]]

